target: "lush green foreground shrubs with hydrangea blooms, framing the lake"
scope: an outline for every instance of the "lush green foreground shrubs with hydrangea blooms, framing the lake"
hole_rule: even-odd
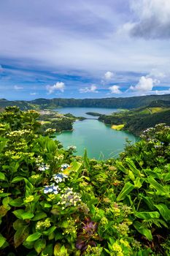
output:
[[[99,162],[42,136],[37,118],[0,115],[0,254],[168,256],[170,127]]]

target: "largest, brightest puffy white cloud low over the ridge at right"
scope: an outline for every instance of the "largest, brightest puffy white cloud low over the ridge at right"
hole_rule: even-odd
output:
[[[152,88],[155,83],[158,83],[158,80],[148,78],[147,76],[146,77],[142,76],[139,79],[139,83],[137,83],[136,86],[131,86],[129,89],[132,91],[141,91],[141,92],[152,91]]]

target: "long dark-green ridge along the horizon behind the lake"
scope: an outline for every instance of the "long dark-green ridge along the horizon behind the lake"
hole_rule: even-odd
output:
[[[170,105],[170,94],[165,95],[147,95],[139,97],[119,97],[119,98],[102,98],[102,99],[34,99],[31,101],[8,101],[7,99],[0,99],[0,108],[6,106],[17,105],[23,110],[26,109],[44,109],[44,108],[60,108],[60,107],[86,107],[86,108],[141,108],[154,104],[159,106]]]

